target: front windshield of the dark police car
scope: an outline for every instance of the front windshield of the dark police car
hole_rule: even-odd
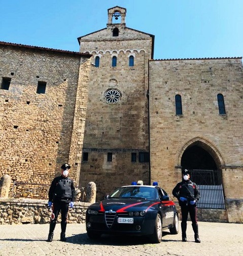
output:
[[[147,186],[127,186],[117,188],[109,198],[143,198],[156,199],[157,193],[155,187]]]

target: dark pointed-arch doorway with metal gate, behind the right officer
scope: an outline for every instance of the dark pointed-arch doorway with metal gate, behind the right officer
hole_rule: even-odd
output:
[[[200,189],[198,208],[225,209],[221,161],[216,151],[202,140],[184,147],[182,169],[191,171],[191,180]]]

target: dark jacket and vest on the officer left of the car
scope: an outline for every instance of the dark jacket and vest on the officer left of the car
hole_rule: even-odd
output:
[[[49,189],[49,201],[53,201],[53,196],[56,195],[56,200],[74,201],[75,187],[74,181],[68,177],[58,176],[53,179]]]

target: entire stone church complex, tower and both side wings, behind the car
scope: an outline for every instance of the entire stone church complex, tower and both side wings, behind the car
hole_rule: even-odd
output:
[[[37,183],[40,166],[47,167],[51,179],[62,161],[69,162],[77,187],[95,182],[99,200],[137,180],[157,181],[171,195],[181,171],[189,169],[202,193],[200,219],[242,222],[242,58],[153,59],[154,36],[127,27],[125,19],[125,8],[108,9],[105,28],[78,38],[80,53],[38,49],[38,59],[46,61],[51,54],[55,61],[70,60],[68,67],[50,66],[50,94],[34,91],[48,75],[41,74],[31,53],[34,65],[27,68],[33,75],[21,80],[18,74],[19,82],[12,84],[13,79],[4,89],[9,74],[15,76],[26,62],[23,53],[34,49],[1,45],[6,56],[0,71],[1,161],[6,171],[0,176],[17,177],[23,170],[26,182],[36,177]],[[15,69],[10,48],[21,50]],[[20,104],[27,104],[25,110],[19,111]],[[19,149],[25,141],[31,153]]]

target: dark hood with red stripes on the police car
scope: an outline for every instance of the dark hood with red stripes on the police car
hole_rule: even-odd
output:
[[[105,211],[116,211],[116,212],[127,212],[130,210],[134,211],[144,211],[156,204],[155,200],[146,200],[146,199],[106,199],[100,203],[92,204],[89,208],[95,209],[100,212]]]

